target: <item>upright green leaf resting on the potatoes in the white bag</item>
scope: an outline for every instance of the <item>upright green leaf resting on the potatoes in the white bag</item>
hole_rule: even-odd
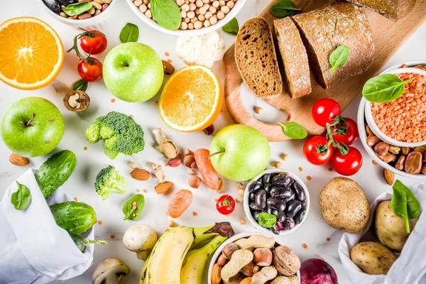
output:
[[[420,203],[417,201],[417,198],[415,198],[410,188],[406,187],[400,180],[396,180],[392,188],[392,211],[395,215],[404,219],[407,233],[410,233],[409,220],[420,216]]]

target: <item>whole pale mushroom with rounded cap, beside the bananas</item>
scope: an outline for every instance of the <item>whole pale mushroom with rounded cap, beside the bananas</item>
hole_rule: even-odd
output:
[[[129,251],[136,252],[139,259],[146,260],[157,239],[157,233],[152,226],[137,224],[124,233],[123,244]]]

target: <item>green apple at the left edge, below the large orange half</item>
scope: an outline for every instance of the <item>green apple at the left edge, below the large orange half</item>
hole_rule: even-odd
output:
[[[14,153],[37,157],[53,151],[64,135],[64,118],[52,102],[26,97],[6,109],[1,119],[1,138]]]

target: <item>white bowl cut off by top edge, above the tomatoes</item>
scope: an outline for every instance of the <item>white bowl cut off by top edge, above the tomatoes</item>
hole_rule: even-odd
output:
[[[102,11],[102,13],[99,13],[99,15],[94,16],[92,18],[86,18],[84,20],[72,20],[70,18],[64,18],[59,16],[57,13],[51,11],[48,6],[46,6],[43,3],[43,0],[38,0],[38,3],[40,3],[40,6],[43,7],[43,9],[50,15],[53,16],[53,18],[57,19],[58,21],[61,21],[62,23],[67,24],[68,26],[72,26],[75,28],[89,28],[96,26],[98,23],[102,23],[103,21],[106,21],[110,15],[110,12],[112,9],[115,9],[114,7],[118,5],[119,1],[121,0],[112,0],[111,4],[109,4],[108,8]]]

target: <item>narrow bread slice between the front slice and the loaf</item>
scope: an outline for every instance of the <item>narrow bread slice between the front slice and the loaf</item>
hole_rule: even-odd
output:
[[[299,30],[290,18],[273,21],[275,40],[280,53],[278,61],[284,70],[288,93],[292,99],[312,92],[310,69],[305,45]]]

